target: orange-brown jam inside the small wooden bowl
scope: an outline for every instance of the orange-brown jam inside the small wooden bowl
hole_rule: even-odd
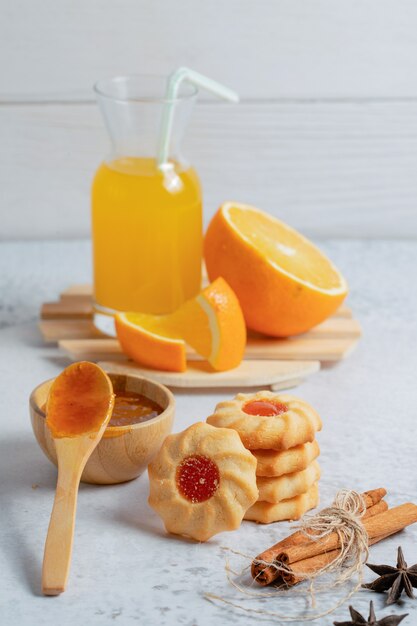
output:
[[[131,426],[158,417],[163,408],[150,398],[135,391],[116,394],[109,426]]]

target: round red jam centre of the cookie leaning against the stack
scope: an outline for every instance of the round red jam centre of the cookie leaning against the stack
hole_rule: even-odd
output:
[[[177,467],[177,487],[190,502],[204,502],[211,498],[220,485],[217,465],[202,455],[188,456]]]

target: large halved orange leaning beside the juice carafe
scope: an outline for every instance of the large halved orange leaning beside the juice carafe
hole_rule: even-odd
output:
[[[255,207],[226,202],[209,224],[204,254],[239,298],[249,328],[276,337],[303,333],[343,302],[347,284],[308,239]]]

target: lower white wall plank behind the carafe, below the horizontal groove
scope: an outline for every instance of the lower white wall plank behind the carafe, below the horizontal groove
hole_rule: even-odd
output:
[[[90,181],[107,150],[96,107],[0,113],[3,238],[88,234]],[[417,234],[417,103],[200,104],[185,154],[206,219],[236,199],[316,236]]]

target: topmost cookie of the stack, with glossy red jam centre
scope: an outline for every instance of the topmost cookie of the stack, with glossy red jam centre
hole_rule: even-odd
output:
[[[220,402],[207,422],[220,428],[233,428],[249,450],[288,450],[313,441],[321,420],[303,400],[271,391],[238,394]]]

